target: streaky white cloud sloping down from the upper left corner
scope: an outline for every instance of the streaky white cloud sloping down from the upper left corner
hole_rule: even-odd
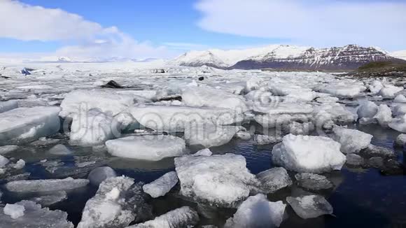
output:
[[[12,0],[0,0],[0,37],[72,43],[48,55],[73,58],[173,56],[167,48],[135,41],[116,27],[103,27],[61,9],[30,6]]]

